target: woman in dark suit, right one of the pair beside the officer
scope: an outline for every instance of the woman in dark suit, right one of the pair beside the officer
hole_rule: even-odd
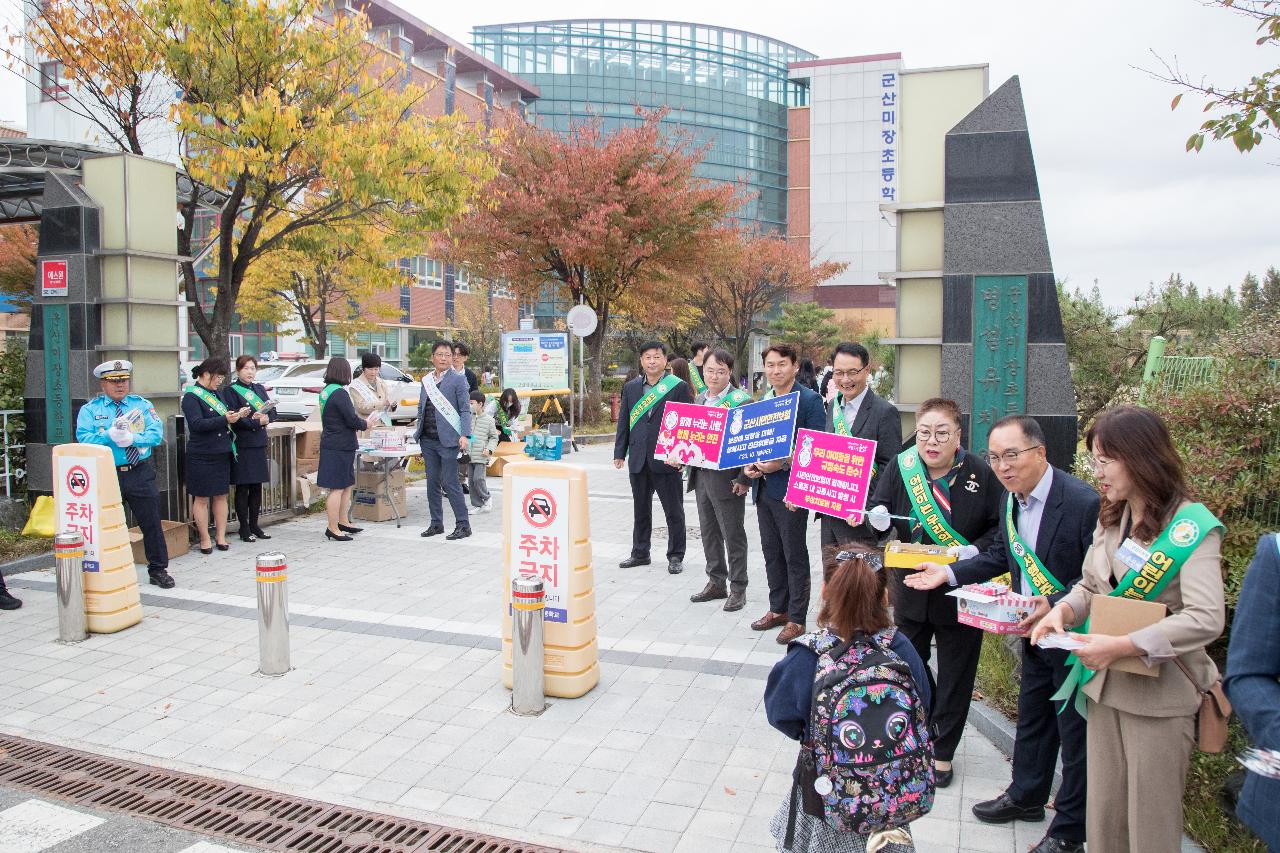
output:
[[[223,389],[228,407],[248,406],[247,418],[232,426],[236,434],[236,459],[232,462],[232,483],[236,485],[236,517],[243,542],[270,539],[257,523],[262,508],[262,484],[271,482],[266,464],[266,425],[275,420],[275,407],[266,407],[266,388],[257,378],[257,359],[242,355],[236,359],[236,380]],[[266,409],[266,411],[264,411]]]

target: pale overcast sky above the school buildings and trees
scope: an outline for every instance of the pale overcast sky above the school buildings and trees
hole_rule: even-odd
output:
[[[602,4],[581,0],[399,5],[466,44],[475,24],[602,13]],[[607,8],[611,17],[759,32],[823,58],[901,51],[908,68],[986,61],[992,90],[1019,74],[1055,272],[1073,284],[1097,280],[1112,304],[1174,272],[1221,289],[1245,272],[1280,266],[1280,143],[1267,140],[1249,155],[1230,143],[1184,154],[1202,120],[1201,101],[1188,96],[1170,111],[1176,90],[1139,70],[1157,69],[1158,54],[1194,78],[1234,87],[1275,68],[1280,50],[1256,47],[1244,18],[1197,0],[648,0]],[[0,9],[5,22],[17,18],[14,0]],[[0,119],[24,124],[23,99],[20,82],[0,77]]]

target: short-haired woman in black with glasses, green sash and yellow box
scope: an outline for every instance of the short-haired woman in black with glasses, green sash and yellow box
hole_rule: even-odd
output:
[[[915,412],[915,443],[879,478],[876,505],[867,514],[881,532],[899,539],[937,544],[960,558],[974,557],[996,539],[1005,488],[977,453],[960,446],[960,407],[951,400],[925,400]],[[897,517],[890,517],[897,516]],[[890,573],[893,621],[925,663],[937,639],[937,701],[932,722],[938,788],[951,784],[951,761],[960,745],[978,674],[982,631],[961,625],[956,599],[946,589],[911,589],[899,570]],[[931,672],[932,678],[932,672]]]

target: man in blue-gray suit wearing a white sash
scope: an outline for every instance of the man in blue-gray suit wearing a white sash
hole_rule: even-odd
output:
[[[453,533],[444,538],[465,539],[471,535],[471,519],[462,498],[462,483],[458,482],[458,453],[467,450],[471,435],[467,379],[453,370],[453,345],[448,341],[431,345],[431,366],[434,370],[422,377],[422,389],[417,398],[417,429],[413,433],[422,448],[426,503],[431,508],[431,526],[422,530],[421,535],[444,533],[444,503],[440,501],[440,489],[436,488],[436,484],[442,484],[449,496],[454,519]]]

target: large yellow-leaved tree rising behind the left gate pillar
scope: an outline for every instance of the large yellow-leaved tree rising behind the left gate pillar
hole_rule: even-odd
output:
[[[369,41],[367,17],[321,0],[47,0],[28,32],[122,150],[152,152],[156,97],[178,92],[164,114],[189,178],[178,252],[207,254],[210,269],[187,261],[182,277],[211,355],[228,355],[244,278],[269,252],[381,216],[443,229],[493,173],[479,132],[419,111],[426,90]],[[209,246],[193,240],[201,207],[215,211]]]

